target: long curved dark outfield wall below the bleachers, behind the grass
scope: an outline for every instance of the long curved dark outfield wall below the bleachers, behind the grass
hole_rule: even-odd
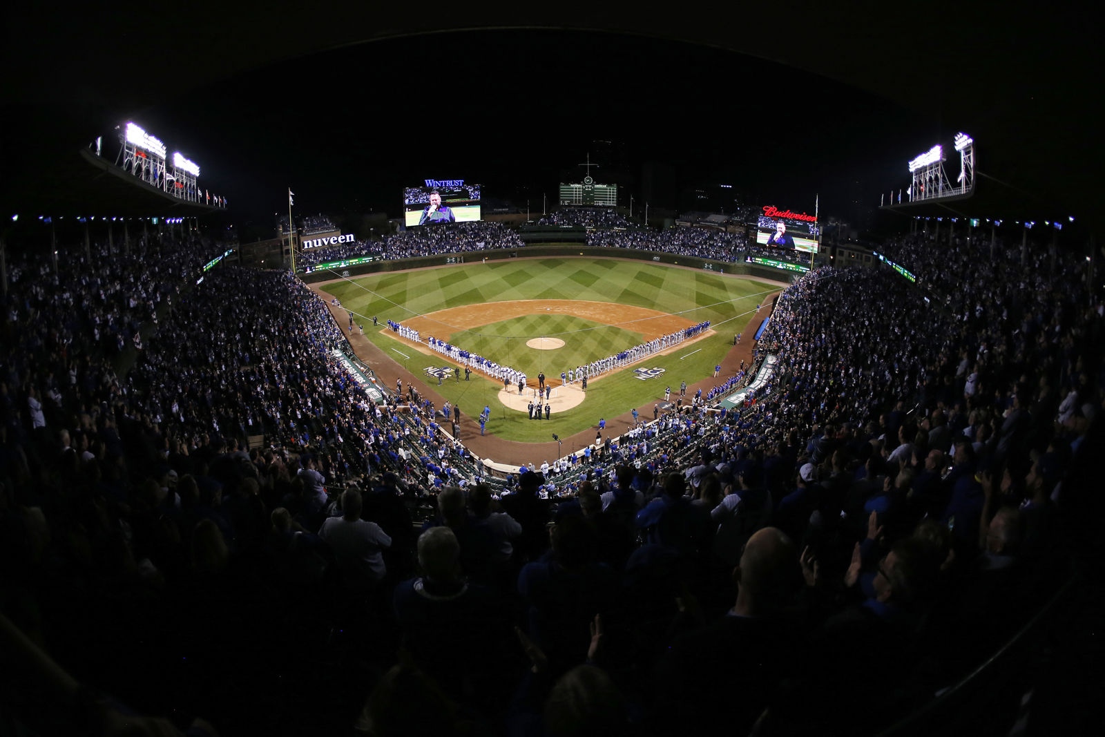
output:
[[[362,274],[373,274],[377,272],[402,271],[404,269],[425,269],[428,266],[444,266],[463,263],[474,264],[483,261],[504,261],[507,259],[534,257],[534,256],[589,256],[592,259],[636,259],[652,263],[672,264],[676,266],[688,266],[691,269],[703,269],[706,271],[724,272],[726,274],[744,274],[755,278],[771,280],[777,282],[789,282],[793,274],[779,269],[757,266],[744,263],[732,263],[728,261],[713,261],[708,259],[694,259],[674,253],[660,253],[656,251],[641,251],[638,249],[611,249],[604,246],[579,245],[572,243],[544,243],[541,245],[527,245],[523,249],[496,249],[491,251],[469,251],[465,253],[440,254],[433,256],[417,256],[414,259],[398,259],[371,261],[366,264],[358,264],[341,270],[320,270],[309,274],[299,274],[299,277],[307,284],[325,282],[335,276],[360,276]]]

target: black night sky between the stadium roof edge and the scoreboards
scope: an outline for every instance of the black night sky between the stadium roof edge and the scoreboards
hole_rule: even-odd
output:
[[[202,168],[235,220],[286,212],[398,217],[400,191],[465,179],[484,198],[556,197],[593,139],[620,141],[678,207],[695,182],[861,219],[908,185],[905,161],[956,130],[823,77],[734,52],[565,31],[481,31],[359,44],[189,92],[133,119]],[[945,140],[947,139],[947,140]],[[603,171],[592,171],[603,181]],[[855,183],[857,182],[857,183]],[[634,191],[636,190],[636,191]],[[860,199],[857,207],[853,200]],[[667,201],[664,201],[667,200]]]

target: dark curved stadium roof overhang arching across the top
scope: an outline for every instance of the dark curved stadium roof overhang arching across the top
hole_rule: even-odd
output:
[[[1032,190],[1030,199],[1091,215],[1102,158],[1092,119],[1103,107],[1094,78],[1103,67],[1091,38],[1095,29],[1077,7],[1024,10],[872,2],[841,11],[829,3],[777,2],[685,12],[644,3],[523,3],[501,11],[476,3],[438,13],[393,3],[299,3],[257,12],[199,2],[85,6],[59,18],[49,4],[22,3],[19,18],[9,11],[4,46],[3,160],[10,173],[3,201],[32,210],[56,201],[57,189],[46,186],[51,177],[38,178],[43,187],[24,187],[20,178],[36,169],[43,175],[43,168],[64,176],[60,157],[75,155],[124,116],[249,70],[366,41],[541,28],[688,41],[815,72],[909,106],[945,128],[968,130],[979,141],[980,171]],[[708,80],[696,80],[695,88],[708,91]],[[831,115],[839,103],[817,104],[818,115]],[[24,134],[29,140],[20,140]],[[877,141],[867,152],[880,156]],[[65,180],[54,181],[64,187]]]

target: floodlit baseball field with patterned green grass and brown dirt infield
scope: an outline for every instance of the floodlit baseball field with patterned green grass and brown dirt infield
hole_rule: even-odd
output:
[[[674,400],[681,381],[712,377],[734,335],[779,285],[641,261],[538,257],[387,272],[317,288],[340,299],[368,340],[465,417],[490,407],[488,435],[548,442],[552,433],[566,438],[633,408],[651,417],[666,387]],[[419,330],[423,343],[400,338],[389,319]],[[586,393],[578,381],[560,386],[561,371],[704,320],[711,328],[702,337],[589,379]],[[457,377],[460,367],[424,345],[429,336],[524,371],[526,391],[504,392],[502,381],[476,371],[467,381],[463,369]],[[554,387],[551,412],[534,421],[527,404],[541,371]]]

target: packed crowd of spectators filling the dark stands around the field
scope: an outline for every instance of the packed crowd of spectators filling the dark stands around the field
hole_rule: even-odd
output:
[[[463,250],[450,231],[480,238],[388,246]],[[665,245],[739,250],[703,232]],[[222,264],[194,285],[202,256],[145,248],[152,276],[19,265],[0,385],[4,614],[139,710],[230,733],[862,734],[1062,579],[1083,489],[1060,482],[1105,386],[1102,307],[1062,263],[964,244],[926,273],[960,284],[946,305],[819,269],[777,301],[748,377],[775,372],[744,406],[657,404],[567,467],[492,480],[450,408],[368,399],[297,280]],[[154,334],[124,380],[73,371],[70,346],[103,352],[95,328],[127,320]]]

